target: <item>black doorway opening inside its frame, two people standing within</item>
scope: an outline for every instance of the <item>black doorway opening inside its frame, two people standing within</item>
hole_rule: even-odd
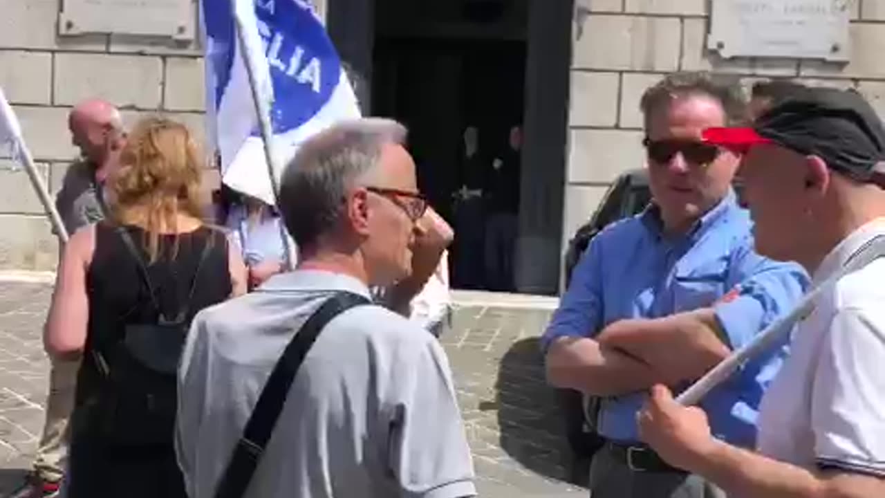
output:
[[[409,128],[421,191],[456,231],[450,249],[456,288],[515,288],[518,200],[512,230],[498,237],[487,229],[493,191],[519,199],[519,152],[510,137],[523,119],[526,12],[526,0],[375,4],[372,113]],[[468,127],[477,145],[469,159]],[[516,167],[516,181],[504,187],[495,164]],[[496,267],[508,259],[509,267]]]

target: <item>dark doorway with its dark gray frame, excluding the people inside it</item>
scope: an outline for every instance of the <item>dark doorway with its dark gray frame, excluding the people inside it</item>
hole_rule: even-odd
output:
[[[327,28],[355,80],[363,113],[396,117],[412,128],[410,145],[423,161],[420,181],[450,222],[458,214],[447,196],[465,176],[466,121],[475,116],[482,121],[475,126],[495,130],[496,120],[524,121],[516,288],[556,294],[573,0],[326,1]],[[508,126],[482,131],[481,146],[494,151],[506,141]],[[463,228],[457,237],[463,242]],[[482,254],[457,245],[451,263],[466,256],[482,261]],[[455,266],[455,276],[470,275]],[[454,286],[464,288],[459,280]]]

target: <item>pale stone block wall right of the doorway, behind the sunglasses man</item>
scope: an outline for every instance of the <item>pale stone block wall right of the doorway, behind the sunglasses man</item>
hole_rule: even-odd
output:
[[[716,0],[577,0],[564,234],[587,219],[608,183],[643,165],[643,90],[676,70],[858,89],[885,116],[885,0],[850,0],[850,63],[721,59],[705,49]]]

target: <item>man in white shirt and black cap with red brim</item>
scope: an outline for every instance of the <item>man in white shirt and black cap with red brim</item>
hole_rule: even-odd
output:
[[[820,284],[885,238],[885,129],[853,90],[799,89],[753,128],[704,138],[744,153],[759,253]],[[882,254],[885,256],[885,254]],[[885,258],[825,287],[763,398],[757,452],[715,440],[704,412],[652,389],[643,440],[732,497],[885,496]]]

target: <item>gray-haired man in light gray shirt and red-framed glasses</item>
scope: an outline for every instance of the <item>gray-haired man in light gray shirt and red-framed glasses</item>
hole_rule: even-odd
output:
[[[427,210],[395,121],[342,122],[305,142],[281,181],[301,261],[194,319],[179,369],[176,450],[190,498],[215,495],[271,370],[335,292],[408,275]],[[297,215],[289,215],[297,214]],[[403,315],[351,308],[294,379],[246,498],[475,495],[442,346]]]

